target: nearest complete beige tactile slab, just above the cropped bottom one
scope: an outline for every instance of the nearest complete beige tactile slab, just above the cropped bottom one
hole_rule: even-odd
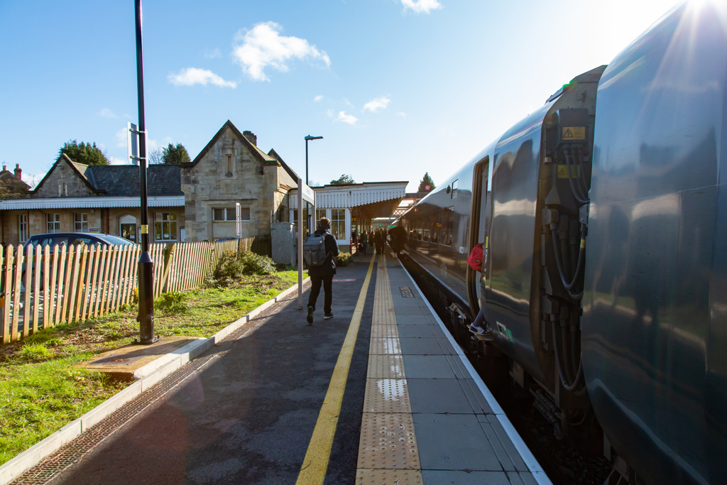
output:
[[[411,414],[364,413],[358,468],[421,469]]]

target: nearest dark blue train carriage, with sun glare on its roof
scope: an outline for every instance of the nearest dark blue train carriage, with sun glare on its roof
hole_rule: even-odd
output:
[[[727,483],[727,3],[676,7],[598,86],[582,355],[622,474]]]

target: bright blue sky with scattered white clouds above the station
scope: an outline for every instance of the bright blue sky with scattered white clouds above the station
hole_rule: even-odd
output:
[[[142,1],[152,148],[228,119],[310,183],[445,180],[672,0]],[[0,161],[38,181],[68,140],[126,161],[134,1],[0,0]]]

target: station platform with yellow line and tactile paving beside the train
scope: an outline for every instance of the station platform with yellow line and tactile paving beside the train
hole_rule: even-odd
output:
[[[333,291],[334,318],[277,302],[12,483],[550,484],[393,253]]]

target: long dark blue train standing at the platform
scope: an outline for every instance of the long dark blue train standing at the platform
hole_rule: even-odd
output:
[[[595,420],[607,484],[727,483],[726,79],[727,2],[679,4],[395,223],[478,369]]]

